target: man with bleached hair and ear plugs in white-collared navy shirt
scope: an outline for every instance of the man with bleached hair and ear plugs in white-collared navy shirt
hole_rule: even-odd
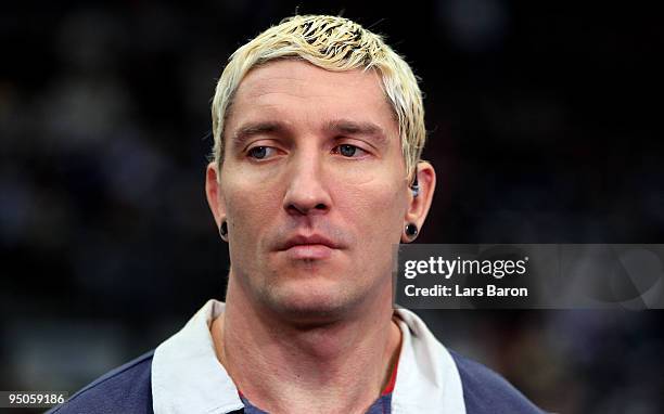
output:
[[[235,51],[212,112],[226,303],[56,412],[539,412],[393,307],[394,246],[436,180],[416,77],[379,36],[285,20]]]

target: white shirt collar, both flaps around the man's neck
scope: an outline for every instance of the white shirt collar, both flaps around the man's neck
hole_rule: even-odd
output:
[[[226,414],[244,405],[238,388],[219,363],[209,332],[225,303],[208,300],[184,327],[162,342],[152,360],[155,414]],[[399,366],[392,413],[465,414],[461,377],[454,359],[424,322],[396,309],[401,329]]]

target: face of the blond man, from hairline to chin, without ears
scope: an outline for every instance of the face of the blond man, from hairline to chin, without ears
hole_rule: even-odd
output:
[[[242,80],[225,131],[217,198],[242,295],[324,318],[391,292],[411,198],[376,73],[270,62]]]

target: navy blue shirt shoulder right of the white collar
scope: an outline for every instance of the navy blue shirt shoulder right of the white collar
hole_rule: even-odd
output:
[[[463,400],[469,414],[542,413],[523,393],[493,370],[449,350],[463,387]]]

